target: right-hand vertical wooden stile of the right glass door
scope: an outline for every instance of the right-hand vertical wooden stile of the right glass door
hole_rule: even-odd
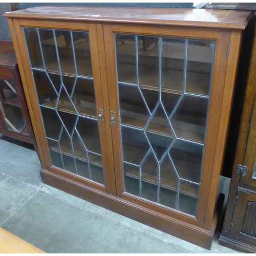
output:
[[[207,129],[204,143],[205,154],[202,162],[204,171],[202,172],[201,176],[198,206],[198,224],[207,230],[210,230],[212,222],[214,219],[217,221],[216,217],[218,216],[218,209],[216,208],[218,195],[216,193],[221,172],[221,163],[219,162],[218,154],[223,154],[223,146],[220,144],[222,144],[224,141],[217,141],[218,136],[220,135],[218,133],[220,129],[220,115],[223,112],[221,104],[217,104],[217,102],[222,102],[223,100],[227,64],[226,46],[227,43],[230,42],[230,32],[223,34],[217,33],[214,38],[215,59],[211,76],[209,110],[207,115]],[[224,126],[221,128],[226,129]],[[223,131],[223,133],[225,136],[226,132]],[[212,159],[216,160],[212,161]],[[211,209],[211,211],[208,211],[207,208]],[[210,214],[210,212],[215,212],[215,214]]]

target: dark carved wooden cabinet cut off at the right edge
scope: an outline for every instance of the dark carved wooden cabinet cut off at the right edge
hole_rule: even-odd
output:
[[[256,44],[254,38],[228,202],[219,242],[256,252]]]

